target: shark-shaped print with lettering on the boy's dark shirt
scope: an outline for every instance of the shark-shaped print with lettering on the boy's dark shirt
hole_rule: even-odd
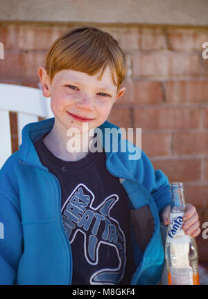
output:
[[[85,259],[89,264],[98,264],[98,251],[101,243],[113,246],[119,260],[116,269],[101,269],[90,278],[91,284],[117,284],[125,269],[125,235],[116,219],[110,217],[110,210],[119,200],[112,194],[94,208],[94,193],[83,183],[77,185],[62,207],[64,230],[72,243],[78,231],[84,235]],[[94,223],[94,225],[91,225]],[[104,230],[99,229],[101,223]]]

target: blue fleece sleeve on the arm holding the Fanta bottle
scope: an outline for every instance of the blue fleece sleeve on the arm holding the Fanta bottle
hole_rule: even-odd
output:
[[[155,199],[158,211],[171,203],[171,192],[167,176],[162,170],[154,170],[153,164],[141,151],[141,158],[135,163],[135,178],[148,189]]]

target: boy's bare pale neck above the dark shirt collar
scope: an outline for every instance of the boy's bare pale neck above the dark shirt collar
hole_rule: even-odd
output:
[[[78,161],[89,154],[89,142],[92,136],[88,131],[83,134],[70,134],[70,130],[65,128],[55,119],[51,132],[43,139],[44,145],[63,161]]]

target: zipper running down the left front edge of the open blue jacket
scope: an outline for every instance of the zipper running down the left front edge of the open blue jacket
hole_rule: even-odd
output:
[[[60,188],[60,183],[59,183],[57,177],[54,174],[52,174],[51,172],[49,172],[46,167],[44,168],[42,166],[30,163],[28,161],[24,161],[22,159],[19,159],[19,163],[21,163],[22,165],[30,165],[30,166],[33,166],[33,167],[37,167],[40,170],[44,170],[45,172],[48,172],[49,175],[51,175],[53,177],[53,179],[55,179],[55,182],[56,182],[57,187],[58,187],[58,202],[59,202],[59,206],[61,207],[61,188]],[[62,223],[61,209],[60,209],[60,219],[61,219],[60,220],[60,226],[61,226],[62,236],[64,237],[65,241],[67,242],[67,247],[69,249],[69,251],[68,251],[68,253],[69,253],[69,285],[71,285],[72,273],[73,273],[72,251],[71,251],[71,245],[69,243],[69,239],[67,238],[67,235],[64,231],[64,226],[63,226],[63,223]]]

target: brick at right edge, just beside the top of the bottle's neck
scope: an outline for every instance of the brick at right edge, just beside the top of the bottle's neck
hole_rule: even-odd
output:
[[[192,203],[196,208],[208,208],[208,183],[207,185],[189,185],[184,186],[184,196],[188,203]],[[208,215],[207,215],[208,216]],[[208,221],[208,219],[207,219]]]

